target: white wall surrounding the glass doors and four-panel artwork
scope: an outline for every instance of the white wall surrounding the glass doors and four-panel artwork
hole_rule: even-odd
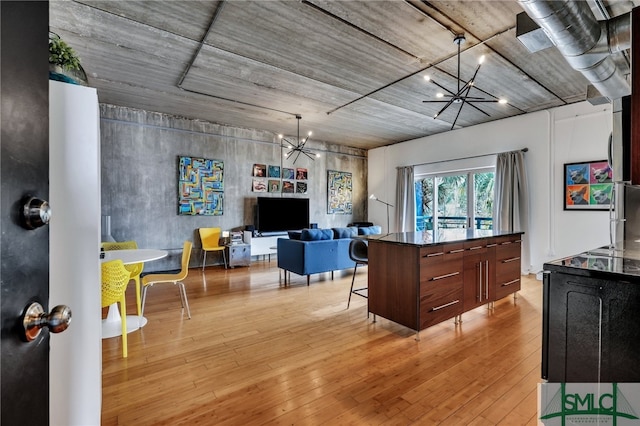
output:
[[[610,105],[581,102],[378,148],[369,151],[368,187],[395,200],[398,166],[529,148],[529,230],[523,239],[529,258],[523,271],[535,273],[548,260],[609,244],[609,212],[564,210],[563,165],[606,159],[611,128]],[[386,221],[374,203],[369,201],[369,220]]]

